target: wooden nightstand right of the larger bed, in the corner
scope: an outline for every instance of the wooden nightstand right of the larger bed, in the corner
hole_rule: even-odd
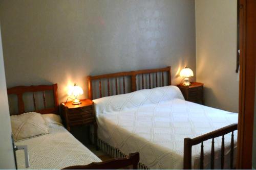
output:
[[[204,104],[203,83],[193,82],[190,86],[183,86],[182,84],[177,86],[180,88],[186,101]]]

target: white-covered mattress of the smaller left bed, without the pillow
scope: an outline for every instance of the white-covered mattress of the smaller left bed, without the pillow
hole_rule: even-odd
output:
[[[101,161],[60,123],[49,122],[49,127],[49,134],[15,142],[16,145],[28,145],[28,169],[61,169]],[[24,151],[16,151],[16,158],[18,169],[26,169]]]

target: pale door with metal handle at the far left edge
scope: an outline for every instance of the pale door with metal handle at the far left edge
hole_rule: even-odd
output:
[[[0,169],[15,169],[0,29]]]

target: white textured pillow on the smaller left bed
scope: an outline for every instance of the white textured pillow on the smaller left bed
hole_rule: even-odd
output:
[[[36,112],[11,116],[11,125],[14,141],[49,133],[45,119]]]

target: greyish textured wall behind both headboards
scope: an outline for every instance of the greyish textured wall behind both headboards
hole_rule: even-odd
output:
[[[191,0],[2,0],[7,86],[58,83],[60,102],[86,77],[133,69],[189,66],[196,73]]]

